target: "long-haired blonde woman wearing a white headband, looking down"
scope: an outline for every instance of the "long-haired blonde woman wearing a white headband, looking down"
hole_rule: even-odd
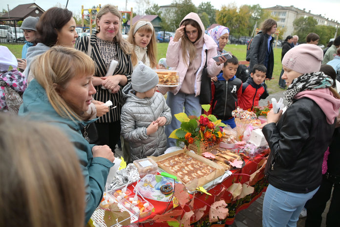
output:
[[[133,68],[142,61],[150,68],[156,68],[157,40],[155,29],[146,20],[139,20],[134,23],[129,31],[127,41],[133,45],[131,60]]]

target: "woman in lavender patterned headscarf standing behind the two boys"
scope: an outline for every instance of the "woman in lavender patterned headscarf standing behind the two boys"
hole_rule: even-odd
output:
[[[225,54],[227,53],[227,51],[224,49],[224,47],[227,45],[228,43],[228,39],[229,39],[229,28],[222,26],[222,25],[218,25],[212,29],[210,29],[208,31],[208,35],[210,37],[212,37],[213,41],[215,41],[215,43],[217,44],[217,55],[221,55],[221,54]],[[232,53],[229,52],[231,55]],[[217,81],[217,76],[212,77],[212,82],[213,81]]]

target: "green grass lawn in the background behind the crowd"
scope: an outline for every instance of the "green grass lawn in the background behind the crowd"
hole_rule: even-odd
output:
[[[10,51],[17,57],[21,58],[21,49],[23,45],[20,44],[1,44],[8,47]],[[230,51],[237,57],[239,61],[246,60],[246,45],[226,45],[224,48],[227,51]],[[157,62],[161,58],[165,58],[167,54],[168,43],[158,43],[157,50]],[[281,73],[281,48],[274,48],[274,71],[273,71],[273,78],[270,81],[267,81],[267,87],[269,93],[276,93],[278,91],[282,91],[278,87],[278,78]]]

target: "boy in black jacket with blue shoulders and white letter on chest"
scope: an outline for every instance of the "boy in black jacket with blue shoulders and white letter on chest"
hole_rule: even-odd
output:
[[[242,94],[242,81],[235,76],[237,67],[238,60],[233,56],[224,63],[223,72],[212,84],[212,114],[232,128],[236,127],[232,111],[237,108]]]

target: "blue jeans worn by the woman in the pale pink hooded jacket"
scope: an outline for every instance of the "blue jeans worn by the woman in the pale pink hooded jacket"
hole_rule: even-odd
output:
[[[174,117],[174,114],[184,113],[188,116],[199,116],[202,112],[201,104],[199,104],[199,96],[195,97],[195,94],[185,94],[178,92],[174,95],[172,92],[168,92],[167,104],[171,109],[171,123],[165,126],[165,134],[167,135],[167,147],[176,146],[176,139],[169,138],[173,130],[181,127],[181,122]]]

